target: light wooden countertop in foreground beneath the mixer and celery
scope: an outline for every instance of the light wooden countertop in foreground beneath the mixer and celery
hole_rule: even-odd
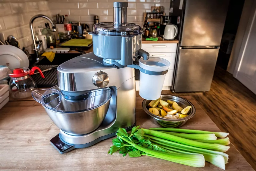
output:
[[[183,97],[195,105],[196,114],[182,128],[220,131],[191,96]],[[137,125],[143,128],[159,127],[143,111],[142,100],[136,98]],[[208,162],[204,168],[195,168],[147,156],[130,158],[122,157],[118,153],[109,155],[107,153],[112,138],[89,148],[59,154],[50,143],[50,139],[58,132],[59,129],[52,123],[41,104],[34,100],[9,101],[0,110],[0,170],[222,170]],[[226,170],[253,170],[232,144],[227,154],[229,163],[226,164]]]

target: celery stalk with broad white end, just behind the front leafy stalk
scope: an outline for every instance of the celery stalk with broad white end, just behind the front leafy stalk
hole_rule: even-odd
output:
[[[154,144],[154,143],[152,143]],[[165,147],[163,145],[160,145],[161,143],[157,143],[154,145],[158,145],[161,148],[164,148],[168,151],[174,151],[176,153],[182,153],[182,154],[203,154],[204,155],[204,160],[208,161],[209,163],[213,164],[214,166],[217,166],[223,170],[225,170],[225,159],[222,155],[220,154],[210,154],[210,153],[205,153],[205,152],[199,152],[199,153],[191,153],[191,152],[187,152],[187,151],[182,151],[181,148],[178,149],[174,149],[174,148],[169,148],[169,147]],[[168,146],[166,144],[166,146]]]

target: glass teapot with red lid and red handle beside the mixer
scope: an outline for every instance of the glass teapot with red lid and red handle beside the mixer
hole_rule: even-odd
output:
[[[16,68],[7,73],[11,77],[9,90],[12,98],[22,99],[30,97],[31,92],[37,89],[36,82],[30,77],[30,75],[34,74],[35,70],[38,70],[44,78],[39,67],[33,67],[31,70],[28,68]]]

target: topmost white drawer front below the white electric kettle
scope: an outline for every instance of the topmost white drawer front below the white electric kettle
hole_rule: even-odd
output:
[[[141,48],[149,53],[151,52],[176,52],[177,44],[176,43],[150,43],[143,44]]]

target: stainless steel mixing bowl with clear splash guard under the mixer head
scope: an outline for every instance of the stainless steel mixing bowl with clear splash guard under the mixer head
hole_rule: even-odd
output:
[[[110,89],[96,90],[88,92],[88,98],[70,101],[58,87],[32,92],[53,123],[69,135],[84,135],[97,129],[105,119],[111,95]]]

